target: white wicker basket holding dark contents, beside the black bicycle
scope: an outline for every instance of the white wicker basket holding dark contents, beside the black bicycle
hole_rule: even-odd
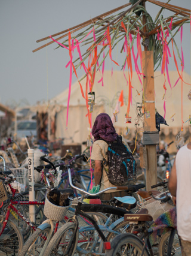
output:
[[[67,209],[69,206],[57,206],[55,204],[52,204],[46,195],[45,198],[45,204],[44,204],[44,215],[48,219],[52,219],[53,221],[61,221],[64,216],[66,215]]]

